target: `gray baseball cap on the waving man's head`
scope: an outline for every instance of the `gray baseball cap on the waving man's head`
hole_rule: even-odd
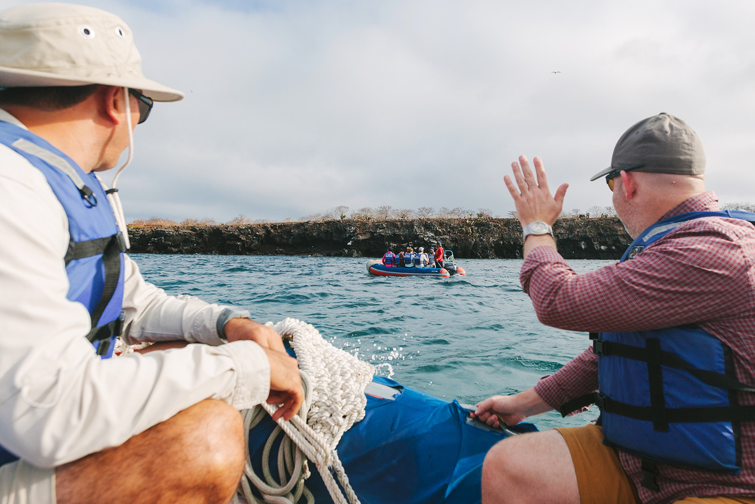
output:
[[[596,180],[612,171],[699,175],[705,173],[705,152],[700,137],[689,124],[661,112],[643,119],[618,139],[611,166],[599,171]]]

